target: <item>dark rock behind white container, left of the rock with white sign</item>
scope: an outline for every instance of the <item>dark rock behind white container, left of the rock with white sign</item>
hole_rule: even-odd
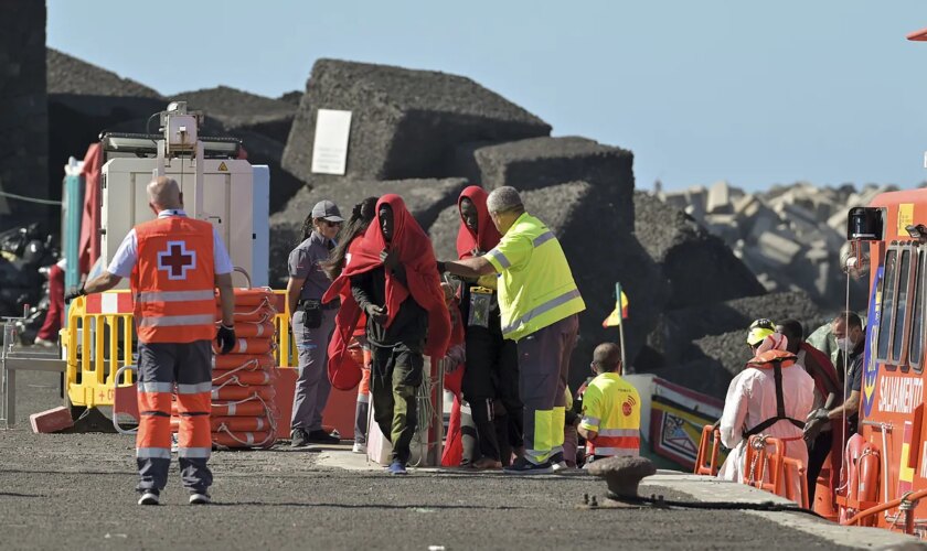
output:
[[[289,137],[296,107],[291,102],[267,98],[247,91],[217,86],[175,94],[172,100],[187,101],[189,109],[202,110],[225,129],[264,134],[281,144]],[[277,158],[279,162],[279,156]]]

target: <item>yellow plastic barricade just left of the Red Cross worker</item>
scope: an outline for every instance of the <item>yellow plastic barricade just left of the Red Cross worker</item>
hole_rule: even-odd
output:
[[[131,313],[88,313],[84,296],[71,303],[61,337],[67,360],[67,399],[73,406],[113,406],[114,378],[120,367],[132,364],[134,336]],[[124,385],[131,383],[129,372]]]

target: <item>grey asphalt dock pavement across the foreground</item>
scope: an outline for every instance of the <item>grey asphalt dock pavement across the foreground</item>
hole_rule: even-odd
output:
[[[20,378],[20,415],[57,403],[56,378]],[[213,455],[215,505],[173,476],[135,505],[134,442],[115,434],[0,431],[0,549],[885,549],[913,541],[801,514],[579,507],[592,476],[412,469],[390,477],[349,446]],[[745,493],[746,491],[746,493]],[[756,501],[749,488],[661,474],[642,494]],[[437,547],[437,548],[433,548]]]

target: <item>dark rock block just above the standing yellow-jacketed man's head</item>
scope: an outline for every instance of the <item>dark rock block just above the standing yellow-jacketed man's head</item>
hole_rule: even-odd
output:
[[[633,230],[633,153],[577,137],[533,138],[479,148],[473,153],[479,182],[487,190],[511,185],[537,190],[564,182],[592,185],[610,204],[616,228]],[[458,160],[458,164],[461,161]]]

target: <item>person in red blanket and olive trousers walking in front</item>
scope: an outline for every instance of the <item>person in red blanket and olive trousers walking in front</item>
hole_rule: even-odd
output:
[[[339,389],[351,389],[360,381],[360,369],[344,359],[364,312],[374,419],[393,444],[390,473],[406,474],[423,353],[444,357],[450,339],[450,315],[435,252],[402,197],[394,194],[380,198],[373,224],[349,251],[344,271],[322,298],[322,302],[342,298],[329,344],[329,378]]]

